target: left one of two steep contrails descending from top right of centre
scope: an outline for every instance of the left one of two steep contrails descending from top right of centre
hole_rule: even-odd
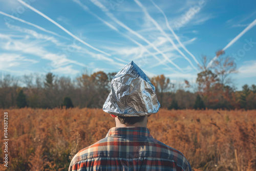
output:
[[[174,46],[174,48],[190,63],[190,65],[197,70],[197,68],[193,65],[193,63],[188,59],[184,53],[182,53],[179,48],[175,45],[174,41],[163,31],[163,29],[159,26],[154,18],[147,12],[146,8],[138,1],[134,0],[134,2],[143,10],[144,14],[147,16],[148,19],[151,20],[152,23],[157,27],[157,29],[169,40],[169,42]]]

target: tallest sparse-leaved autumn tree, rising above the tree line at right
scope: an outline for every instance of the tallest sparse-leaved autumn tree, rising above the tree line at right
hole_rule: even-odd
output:
[[[223,50],[216,52],[216,59],[211,60],[204,56],[201,72],[198,73],[198,92],[206,99],[210,108],[226,108],[230,106],[233,99],[231,85],[231,74],[237,73],[236,63],[229,56],[223,56]],[[232,103],[233,103],[232,101]]]

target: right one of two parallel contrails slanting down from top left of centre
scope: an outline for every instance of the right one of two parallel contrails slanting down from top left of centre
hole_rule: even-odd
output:
[[[18,0],[20,1],[20,0]],[[180,71],[183,72],[183,70],[177,66],[172,60],[170,60],[163,52],[161,52],[155,45],[153,45],[150,41],[148,41],[145,37],[143,37],[142,35],[140,35],[139,33],[135,32],[134,30],[132,30],[131,28],[127,27],[125,24],[123,24],[122,22],[120,22],[112,13],[109,12],[109,10],[102,5],[100,2],[98,2],[97,0],[90,0],[94,5],[96,5],[97,7],[99,7],[106,15],[108,15],[112,20],[114,20],[114,22],[116,22],[119,26],[121,26],[122,28],[128,30],[129,32],[131,32],[132,34],[136,35],[137,37],[139,37],[140,39],[144,40],[148,45],[152,46],[153,49],[155,49],[157,52],[159,52],[168,62],[172,63],[176,68],[178,68]]]

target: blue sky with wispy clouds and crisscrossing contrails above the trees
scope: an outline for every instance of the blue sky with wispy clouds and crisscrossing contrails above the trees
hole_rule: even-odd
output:
[[[25,3],[24,3],[25,2]],[[118,72],[195,81],[202,55],[236,60],[236,87],[256,83],[256,2],[0,1],[0,72],[76,77]]]

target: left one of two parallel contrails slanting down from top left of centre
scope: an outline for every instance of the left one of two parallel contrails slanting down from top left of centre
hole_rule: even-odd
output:
[[[151,53],[150,51],[147,50],[147,48],[145,48],[143,45],[141,45],[138,41],[134,40],[133,38],[131,38],[130,36],[127,36],[126,34],[123,34],[122,32],[120,32],[115,26],[111,25],[110,23],[106,22],[104,19],[100,18],[97,14],[93,13],[90,11],[90,9],[86,6],[83,5],[79,0],[73,0],[75,3],[77,3],[78,5],[80,5],[85,11],[89,12],[90,14],[94,15],[95,17],[97,17],[99,20],[101,20],[101,22],[103,22],[105,25],[109,26],[110,28],[112,28],[113,30],[117,31],[119,34],[123,35],[124,37],[126,37],[127,39],[133,41],[136,45],[138,45],[139,47],[141,47],[143,50],[145,50],[148,54],[152,55],[155,59],[157,59],[159,62],[162,63],[162,60],[159,59],[155,54]],[[173,69],[171,67],[169,67],[168,65],[166,65],[166,63],[162,63],[164,66]]]

